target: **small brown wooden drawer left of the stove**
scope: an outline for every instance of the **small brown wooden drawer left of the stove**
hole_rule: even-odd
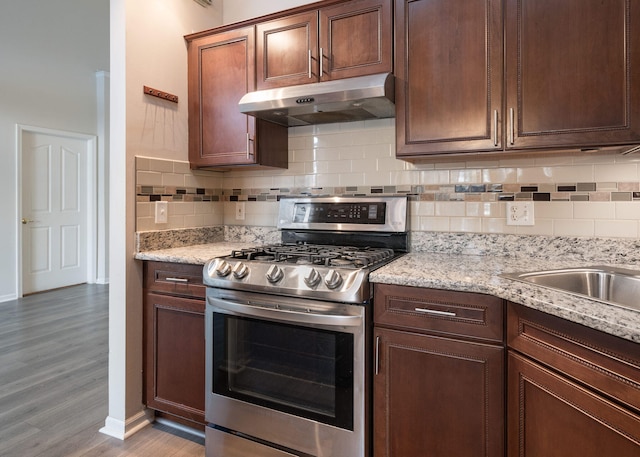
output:
[[[202,265],[145,262],[145,288],[148,291],[184,297],[204,298]]]

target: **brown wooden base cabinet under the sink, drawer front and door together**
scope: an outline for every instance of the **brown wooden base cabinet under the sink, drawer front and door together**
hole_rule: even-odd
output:
[[[640,347],[509,304],[508,456],[640,455]]]

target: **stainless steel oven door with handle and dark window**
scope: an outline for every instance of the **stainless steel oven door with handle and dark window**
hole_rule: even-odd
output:
[[[314,456],[365,455],[365,307],[207,291],[211,424]]]

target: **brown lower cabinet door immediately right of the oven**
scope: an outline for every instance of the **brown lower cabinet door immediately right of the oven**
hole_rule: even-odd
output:
[[[374,457],[503,455],[502,347],[374,333]]]

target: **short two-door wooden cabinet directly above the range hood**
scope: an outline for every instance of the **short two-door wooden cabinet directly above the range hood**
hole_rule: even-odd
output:
[[[393,69],[391,0],[353,0],[256,25],[257,88]]]

